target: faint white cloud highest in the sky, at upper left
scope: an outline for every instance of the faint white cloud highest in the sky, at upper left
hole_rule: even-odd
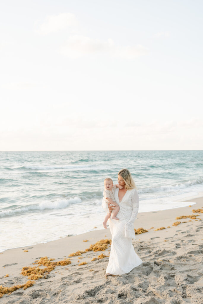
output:
[[[62,13],[57,16],[46,16],[45,21],[38,25],[35,32],[41,35],[47,35],[64,29],[73,29],[77,26],[78,21],[74,14]]]

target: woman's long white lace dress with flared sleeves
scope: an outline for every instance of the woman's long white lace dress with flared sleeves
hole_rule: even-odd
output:
[[[120,207],[117,214],[119,220],[109,219],[109,228],[112,234],[112,245],[106,273],[122,275],[128,273],[142,260],[132,246],[135,239],[134,220],[139,208],[139,196],[136,189],[127,190],[119,202],[119,188],[115,189],[115,201]],[[103,204],[104,206],[104,204]]]

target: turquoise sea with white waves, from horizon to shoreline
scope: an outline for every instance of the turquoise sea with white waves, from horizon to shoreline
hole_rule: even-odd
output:
[[[102,228],[103,180],[128,168],[139,212],[203,190],[203,151],[0,152],[0,251]]]

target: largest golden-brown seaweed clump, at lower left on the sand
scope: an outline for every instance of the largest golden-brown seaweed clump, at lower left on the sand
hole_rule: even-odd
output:
[[[50,271],[54,270],[56,266],[71,264],[70,259],[64,259],[58,262],[52,262],[53,260],[54,259],[48,259],[48,257],[41,257],[40,260],[36,260],[33,264],[46,266],[45,268],[39,268],[39,266],[23,267],[21,274],[27,276],[30,280],[38,280],[43,278],[46,273],[50,273]]]

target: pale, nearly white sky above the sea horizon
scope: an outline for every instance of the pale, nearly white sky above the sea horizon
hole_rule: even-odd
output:
[[[1,1],[0,150],[203,150],[202,11]]]

